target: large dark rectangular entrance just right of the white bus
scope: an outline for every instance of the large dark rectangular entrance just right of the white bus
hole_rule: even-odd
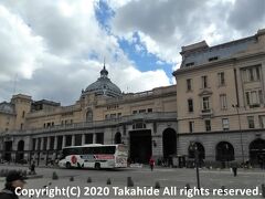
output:
[[[151,148],[151,130],[134,130],[130,136],[130,160],[131,163],[147,164],[152,155]]]

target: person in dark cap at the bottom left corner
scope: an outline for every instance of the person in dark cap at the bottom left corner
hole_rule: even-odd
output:
[[[18,172],[15,170],[9,171],[7,178],[6,178],[6,185],[4,189],[0,191],[0,198],[1,199],[19,199],[18,195],[15,193],[15,189],[20,192],[25,184],[26,177],[22,176],[21,172]]]

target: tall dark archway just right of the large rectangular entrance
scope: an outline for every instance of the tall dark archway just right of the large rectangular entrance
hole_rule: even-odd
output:
[[[174,129],[167,128],[162,133],[162,144],[163,144],[163,158],[168,164],[172,160],[170,155],[174,155],[177,153],[177,134]]]

